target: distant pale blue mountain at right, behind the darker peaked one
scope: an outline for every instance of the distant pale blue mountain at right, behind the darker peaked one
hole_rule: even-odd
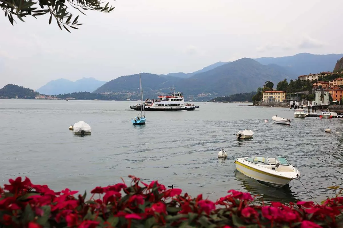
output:
[[[307,75],[309,73],[319,73],[322,71],[331,71],[332,65],[342,58],[343,54],[314,55],[310,53],[299,53],[293,56],[285,57],[262,57],[254,60],[263,65],[277,64],[287,67],[295,75]]]

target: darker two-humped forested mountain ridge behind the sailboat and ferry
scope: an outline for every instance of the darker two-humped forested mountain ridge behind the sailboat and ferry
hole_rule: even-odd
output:
[[[190,78],[165,77],[152,73],[141,73],[145,98],[156,98],[158,94],[170,93],[175,85],[188,99],[208,100],[216,96],[255,91],[270,80],[276,84],[284,78],[295,75],[285,67],[271,64],[262,65],[250,58],[224,63],[205,72],[196,73]],[[123,93],[128,97],[139,94],[139,74],[122,76],[100,86],[95,93]]]

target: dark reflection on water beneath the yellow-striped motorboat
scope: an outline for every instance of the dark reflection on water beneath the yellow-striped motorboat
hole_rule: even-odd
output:
[[[292,192],[288,184],[282,188],[268,186],[244,175],[238,170],[235,170],[235,177],[242,183],[242,186],[246,191],[250,192],[252,195],[259,195],[254,200],[257,203],[260,203],[262,200],[264,202],[278,201],[284,204],[299,201],[299,199],[293,195],[294,192]]]

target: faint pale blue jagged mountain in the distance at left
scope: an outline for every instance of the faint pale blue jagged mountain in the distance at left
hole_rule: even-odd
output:
[[[105,83],[105,81],[98,81],[94,78],[82,78],[74,82],[61,78],[46,83],[36,91],[45,95],[93,92],[96,88],[99,88],[99,86],[102,86]]]

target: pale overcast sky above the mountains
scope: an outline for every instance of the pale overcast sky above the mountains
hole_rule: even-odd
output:
[[[151,72],[193,72],[218,61],[343,53],[342,0],[116,0],[86,11],[80,30],[49,16],[0,17],[0,88],[50,80],[109,81]]]

